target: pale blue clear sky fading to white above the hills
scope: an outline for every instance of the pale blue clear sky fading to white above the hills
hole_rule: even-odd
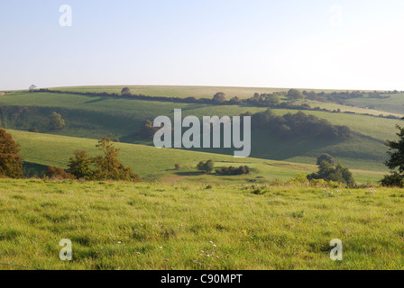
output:
[[[0,90],[404,90],[403,44],[402,0],[1,0]]]

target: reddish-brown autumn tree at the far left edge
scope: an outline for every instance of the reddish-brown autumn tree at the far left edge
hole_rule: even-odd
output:
[[[23,177],[23,157],[18,156],[20,145],[4,129],[0,129],[0,175]]]

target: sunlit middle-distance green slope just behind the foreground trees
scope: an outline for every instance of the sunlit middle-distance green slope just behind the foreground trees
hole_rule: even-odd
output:
[[[94,139],[80,139],[50,134],[30,133],[18,130],[8,130],[13,138],[21,143],[24,160],[43,166],[67,167],[69,157],[76,149],[84,149],[90,155],[96,155]],[[314,172],[317,166],[272,161],[260,158],[235,159],[233,156],[202,153],[179,149],[160,149],[149,146],[115,143],[121,149],[120,159],[125,166],[132,166],[133,171],[142,175],[145,181],[164,182],[196,182],[196,183],[264,183],[277,178],[288,180],[298,173]],[[199,175],[196,173],[197,163],[201,160],[212,159],[217,167],[248,165],[253,169],[252,175],[222,176]],[[175,164],[179,170],[174,169]],[[383,171],[364,171],[353,169],[353,176],[360,184],[377,182]]]

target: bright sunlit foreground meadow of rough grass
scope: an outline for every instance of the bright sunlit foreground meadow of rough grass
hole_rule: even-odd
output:
[[[41,269],[402,269],[404,193],[0,180],[0,263]],[[59,259],[62,238],[73,261]],[[333,262],[331,239],[344,245]],[[1,265],[2,269],[17,267]],[[21,269],[21,267],[19,268]]]

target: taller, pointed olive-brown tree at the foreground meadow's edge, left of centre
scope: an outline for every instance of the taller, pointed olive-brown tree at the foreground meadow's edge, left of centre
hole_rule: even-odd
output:
[[[104,137],[98,141],[96,145],[103,156],[93,158],[96,166],[92,177],[96,180],[124,180],[124,181],[140,181],[140,176],[132,172],[131,167],[125,167],[118,159],[119,148],[115,148],[111,139]]]

